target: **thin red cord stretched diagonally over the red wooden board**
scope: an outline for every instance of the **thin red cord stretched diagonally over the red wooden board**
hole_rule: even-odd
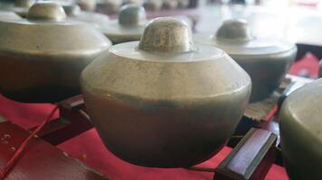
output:
[[[29,144],[29,142],[33,139],[33,137],[40,131],[43,130],[44,125],[52,119],[53,114],[58,110],[58,106],[56,105],[50,115],[43,121],[33,132],[28,136],[27,139],[24,139],[24,142],[20,145],[19,148],[14,152],[14,156],[10,158],[10,160],[5,164],[4,168],[0,169],[0,179],[3,180],[6,174],[10,171],[11,167],[14,166],[14,162],[22,155],[25,147]]]

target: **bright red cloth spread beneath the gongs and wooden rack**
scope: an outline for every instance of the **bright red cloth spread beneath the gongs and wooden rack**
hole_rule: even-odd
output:
[[[298,75],[306,72],[309,76],[317,76],[318,59],[312,54],[295,63],[289,73]],[[14,121],[25,129],[40,124],[53,108],[49,103],[16,103],[0,95],[0,116],[6,120]],[[55,117],[58,117],[58,113]],[[213,179],[213,173],[194,172],[181,168],[161,169],[134,166],[112,155],[102,144],[97,131],[92,129],[80,136],[64,142],[58,148],[68,152],[72,157],[77,157],[92,166],[100,173],[112,179]],[[199,166],[215,167],[231,148],[223,148],[215,157]],[[285,169],[281,166],[272,166],[266,180],[287,180]]]

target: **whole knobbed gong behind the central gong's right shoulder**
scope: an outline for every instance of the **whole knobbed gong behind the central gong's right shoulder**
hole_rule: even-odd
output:
[[[252,81],[251,102],[269,97],[279,87],[297,53],[295,44],[286,40],[251,36],[241,20],[228,20],[214,36],[197,34],[194,40],[224,49],[246,70]]]

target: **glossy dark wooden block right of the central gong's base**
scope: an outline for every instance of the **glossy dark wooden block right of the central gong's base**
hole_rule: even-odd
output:
[[[275,160],[276,139],[277,135],[268,130],[251,129],[216,168],[213,179],[264,179]]]

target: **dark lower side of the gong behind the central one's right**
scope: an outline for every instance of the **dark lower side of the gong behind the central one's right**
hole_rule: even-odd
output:
[[[270,96],[285,78],[296,57],[297,48],[271,55],[232,55],[251,76],[251,102],[258,102]]]

